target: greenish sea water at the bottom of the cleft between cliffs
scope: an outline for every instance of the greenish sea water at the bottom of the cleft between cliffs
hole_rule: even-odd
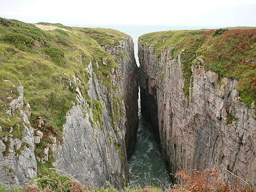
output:
[[[135,151],[129,159],[130,185],[135,187],[157,186],[169,188],[171,177],[163,159],[158,135],[140,112]]]

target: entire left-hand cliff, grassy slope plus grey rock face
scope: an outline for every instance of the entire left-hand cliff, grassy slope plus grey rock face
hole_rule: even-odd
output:
[[[24,185],[55,168],[122,188],[138,122],[132,38],[0,19],[0,182]]]

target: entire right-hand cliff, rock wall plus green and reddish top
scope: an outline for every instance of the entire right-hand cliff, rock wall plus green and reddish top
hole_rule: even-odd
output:
[[[188,30],[140,37],[141,111],[158,128],[172,174],[215,168],[230,185],[255,187],[255,34]]]

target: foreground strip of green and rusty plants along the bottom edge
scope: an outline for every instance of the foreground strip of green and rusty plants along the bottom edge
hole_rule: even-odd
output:
[[[247,187],[239,187],[239,186],[232,186],[232,190],[230,190],[229,185],[222,182],[221,179],[218,178],[218,174],[216,174],[215,169],[205,169],[204,171],[197,171],[196,169],[193,170],[193,174],[188,174],[187,172],[177,171],[176,172],[176,179],[178,180],[179,184],[175,184],[173,188],[166,188],[163,189],[157,187],[125,187],[123,190],[117,190],[114,188],[110,182],[106,181],[106,188],[99,188],[99,189],[92,189],[90,186],[82,185],[79,181],[74,179],[73,177],[68,176],[59,176],[55,173],[51,173],[48,175],[44,175],[38,177],[35,180],[31,180],[27,187],[15,187],[11,188],[8,191],[13,192],[53,192],[53,191],[60,191],[60,192],[185,192],[185,191],[240,191],[240,192],[252,192],[254,189],[250,186]],[[7,192],[3,185],[0,183],[0,190]]]

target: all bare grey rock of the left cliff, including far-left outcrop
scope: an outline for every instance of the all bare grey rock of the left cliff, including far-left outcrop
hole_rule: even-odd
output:
[[[24,130],[21,140],[13,137],[12,130],[0,140],[0,182],[5,187],[24,185],[37,176],[35,143],[40,143],[43,136],[48,137],[49,144],[44,148],[44,157],[37,158],[40,162],[47,162],[49,150],[52,149],[56,159],[54,166],[61,170],[60,174],[71,175],[93,188],[107,187],[106,180],[119,189],[127,185],[127,152],[131,154],[135,146],[138,125],[137,65],[132,38],[124,37],[118,46],[103,49],[110,52],[118,64],[118,68],[113,68],[108,74],[111,88],[105,87],[101,77],[96,76],[92,67],[94,64],[89,63],[84,69],[89,76],[88,94],[92,103],[95,100],[100,103],[100,115],[94,119],[93,105],[87,103],[88,98],[85,99],[79,87],[76,87],[77,102],[66,114],[63,143],[53,135],[43,135],[40,130],[34,134],[29,122],[30,106],[24,105],[24,90],[22,86],[18,87],[20,96],[10,101],[5,113],[9,116],[20,113],[23,122],[19,126],[24,126]],[[124,57],[121,58],[119,54]],[[80,57],[80,61],[83,61],[83,57]],[[107,59],[102,62],[109,64]],[[76,76],[70,80],[70,86],[71,82],[81,84]],[[42,128],[44,123],[43,117],[38,117],[37,128]],[[127,152],[126,143],[129,143]]]

